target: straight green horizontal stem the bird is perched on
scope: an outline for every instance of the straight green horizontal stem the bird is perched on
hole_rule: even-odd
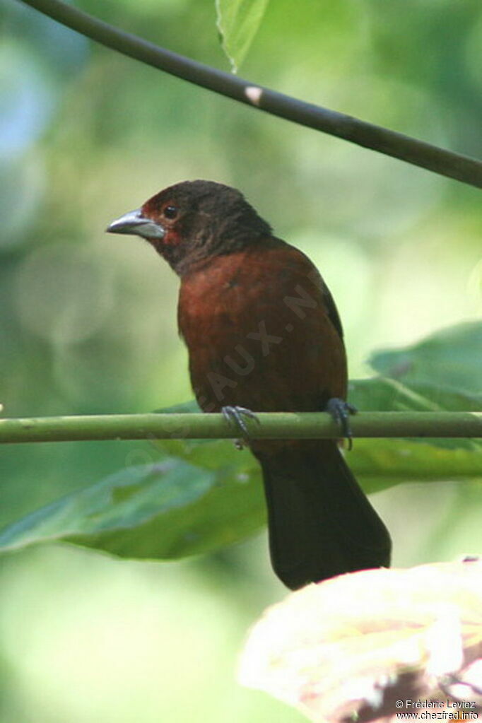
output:
[[[330,439],[340,429],[328,414],[280,412],[246,419],[253,439]],[[482,412],[364,412],[350,420],[354,437],[482,437]],[[0,443],[81,440],[235,439],[221,414],[106,414],[1,419]]]

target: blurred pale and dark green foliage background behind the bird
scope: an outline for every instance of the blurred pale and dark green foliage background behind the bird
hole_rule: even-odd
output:
[[[212,0],[83,0],[87,12],[228,69]],[[344,320],[352,377],[376,348],[480,317],[480,192],[218,98],[0,9],[0,362],[4,414],[150,411],[191,398],[178,283],[109,221],[184,179],[231,184],[308,253]],[[480,0],[277,0],[241,75],[482,158]],[[125,466],[147,442],[0,450],[3,526]],[[460,484],[374,495],[395,564],[471,552]],[[457,521],[452,509],[457,505]],[[210,720],[296,712],[235,682],[246,628],[285,594],[264,535],[180,563],[41,547],[0,560],[1,723]]]

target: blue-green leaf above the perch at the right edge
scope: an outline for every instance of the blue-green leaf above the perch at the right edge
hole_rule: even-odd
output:
[[[423,382],[481,395],[482,322],[442,329],[413,346],[376,352],[369,361],[377,372],[404,384]]]

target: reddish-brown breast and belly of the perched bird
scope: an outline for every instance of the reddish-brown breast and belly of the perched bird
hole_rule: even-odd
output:
[[[311,261],[283,241],[212,257],[185,275],[178,325],[205,411],[318,411],[345,397],[335,304]]]

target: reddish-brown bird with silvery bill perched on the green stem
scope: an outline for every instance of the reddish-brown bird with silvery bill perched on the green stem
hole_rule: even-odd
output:
[[[165,188],[107,231],[147,240],[180,278],[191,385],[202,411],[241,427],[259,461],[278,578],[298,589],[388,567],[390,534],[339,440],[248,434],[246,417],[257,412],[330,411],[346,423],[343,328],[311,260],[278,239],[241,192],[215,181]]]

